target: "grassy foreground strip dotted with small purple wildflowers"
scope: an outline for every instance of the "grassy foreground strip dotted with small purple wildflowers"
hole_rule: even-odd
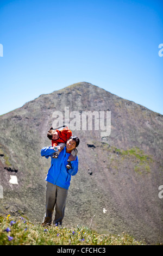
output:
[[[98,234],[88,227],[42,227],[24,220],[0,216],[0,245],[145,245],[134,237]]]

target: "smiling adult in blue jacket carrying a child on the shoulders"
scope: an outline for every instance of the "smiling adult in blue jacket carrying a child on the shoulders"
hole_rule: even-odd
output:
[[[71,136],[66,143],[64,149],[58,148],[60,154],[57,159],[54,159],[53,147],[44,147],[41,149],[41,156],[47,159],[51,157],[51,167],[46,176],[46,212],[43,218],[43,225],[51,224],[55,206],[54,224],[61,225],[65,214],[65,206],[68,188],[70,186],[71,176],[78,172],[78,156],[72,156],[71,151],[79,145],[79,138]],[[66,167],[67,160],[71,161],[71,169]]]

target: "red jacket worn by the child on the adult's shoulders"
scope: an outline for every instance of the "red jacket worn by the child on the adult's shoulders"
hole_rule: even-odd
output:
[[[58,143],[66,143],[68,139],[72,136],[72,131],[68,129],[68,127],[65,127],[61,131],[55,130],[58,132],[59,138],[55,139],[55,141],[52,139],[52,147],[56,147]]]

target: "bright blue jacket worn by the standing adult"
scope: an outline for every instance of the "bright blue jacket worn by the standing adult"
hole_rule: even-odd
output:
[[[41,156],[52,157],[55,150],[53,147],[44,147],[41,149]],[[70,153],[66,153],[66,147],[60,152],[57,159],[51,158],[51,167],[48,170],[46,181],[57,185],[59,187],[66,188],[70,186],[71,176],[76,175],[78,172],[78,156],[76,160],[71,161],[72,168],[66,167],[68,156]]]

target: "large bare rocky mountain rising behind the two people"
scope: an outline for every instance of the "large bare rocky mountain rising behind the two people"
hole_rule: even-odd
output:
[[[88,113],[95,118],[84,119]],[[80,144],[64,224],[162,242],[163,116],[86,82],[40,95],[1,115],[0,212],[42,222],[51,160],[40,151],[51,145],[49,128],[67,117],[78,127],[72,132]],[[14,177],[17,184],[11,182]]]

